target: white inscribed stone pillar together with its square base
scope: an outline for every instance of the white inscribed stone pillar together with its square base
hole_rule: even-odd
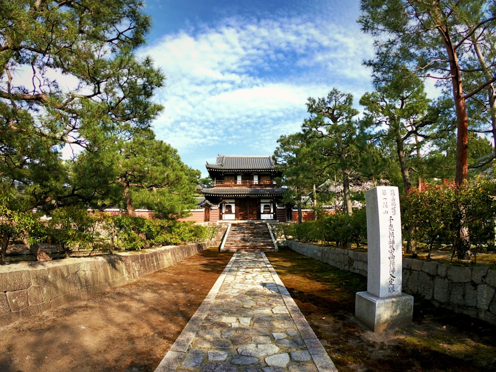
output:
[[[367,292],[357,292],[355,316],[374,332],[412,324],[413,297],[401,293],[403,250],[398,187],[365,192]]]

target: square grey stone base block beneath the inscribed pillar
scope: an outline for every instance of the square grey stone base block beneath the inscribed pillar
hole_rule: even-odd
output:
[[[355,316],[373,332],[412,325],[413,296],[378,298],[369,292],[357,292]]]

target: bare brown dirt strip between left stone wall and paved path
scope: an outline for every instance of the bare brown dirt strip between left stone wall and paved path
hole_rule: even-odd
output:
[[[101,295],[0,327],[0,371],[154,371],[231,256],[207,249]]]

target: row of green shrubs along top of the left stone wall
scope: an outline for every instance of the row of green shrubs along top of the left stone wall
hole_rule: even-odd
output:
[[[64,256],[69,257],[75,248],[91,252],[140,250],[152,246],[205,242],[215,234],[214,227],[192,222],[88,213],[74,206],[54,209],[48,221],[43,222],[39,215],[12,211],[6,205],[0,203],[0,264],[5,263],[5,251],[11,239],[24,239],[29,244],[47,242],[59,245]]]

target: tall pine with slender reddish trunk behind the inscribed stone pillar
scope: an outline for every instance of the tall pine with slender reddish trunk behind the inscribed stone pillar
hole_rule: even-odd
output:
[[[375,79],[401,61],[419,75],[433,77],[437,84],[450,88],[457,120],[455,180],[461,183],[468,172],[466,100],[496,81],[494,48],[482,48],[481,44],[494,39],[495,2],[362,0],[361,9],[362,29],[376,39],[376,57],[368,62]],[[486,55],[475,59],[477,50]]]

